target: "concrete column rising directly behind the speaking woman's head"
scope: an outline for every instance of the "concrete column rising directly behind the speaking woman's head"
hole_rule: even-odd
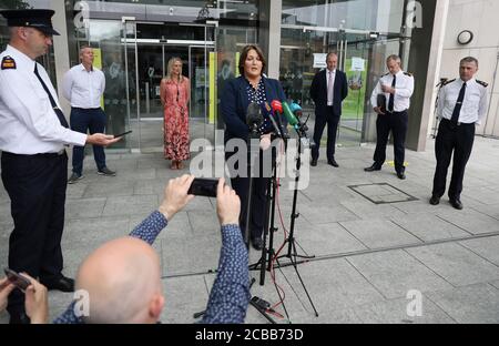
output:
[[[283,0],[259,1],[258,43],[266,53],[267,75],[279,78],[281,64],[281,16]]]

